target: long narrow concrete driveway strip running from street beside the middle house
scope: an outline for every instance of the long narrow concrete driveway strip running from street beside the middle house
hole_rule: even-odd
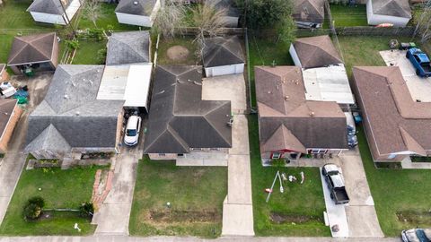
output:
[[[233,117],[229,150],[227,196],[223,203],[224,236],[254,236],[251,165],[247,117]]]

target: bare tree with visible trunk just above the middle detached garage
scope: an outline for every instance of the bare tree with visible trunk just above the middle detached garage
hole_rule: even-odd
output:
[[[194,27],[198,28],[193,42],[198,44],[198,56],[203,55],[205,48],[205,38],[216,37],[223,33],[223,27],[226,25],[225,16],[226,9],[216,9],[214,4],[206,2],[205,4],[199,4],[195,9],[192,10],[192,21]]]

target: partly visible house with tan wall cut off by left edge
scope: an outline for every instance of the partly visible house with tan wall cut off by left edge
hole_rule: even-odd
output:
[[[18,123],[22,109],[18,106],[17,99],[0,99],[0,152],[7,151],[13,129]]]

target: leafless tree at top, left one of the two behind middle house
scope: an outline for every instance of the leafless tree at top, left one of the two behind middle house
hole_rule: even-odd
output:
[[[175,30],[183,27],[186,11],[184,4],[166,0],[154,21],[155,30],[161,33],[163,38],[172,39],[175,37]]]

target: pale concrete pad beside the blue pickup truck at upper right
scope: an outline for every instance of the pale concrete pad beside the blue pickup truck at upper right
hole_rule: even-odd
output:
[[[406,50],[380,51],[386,65],[399,66],[402,76],[407,83],[412,99],[431,101],[431,77],[421,78],[416,74],[415,67],[406,58]]]

